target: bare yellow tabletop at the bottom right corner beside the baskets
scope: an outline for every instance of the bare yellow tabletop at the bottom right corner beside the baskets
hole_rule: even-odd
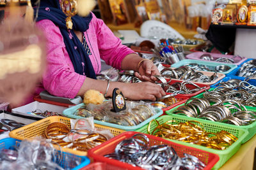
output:
[[[220,170],[230,169],[253,169],[254,150],[256,147],[256,135],[241,145],[239,151],[233,155]]]

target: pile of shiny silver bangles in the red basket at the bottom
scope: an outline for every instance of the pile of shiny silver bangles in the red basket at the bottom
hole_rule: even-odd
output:
[[[149,145],[144,134],[135,134],[116,145],[115,153],[104,155],[143,169],[204,169],[205,164],[197,157],[184,153],[179,157],[172,146]]]

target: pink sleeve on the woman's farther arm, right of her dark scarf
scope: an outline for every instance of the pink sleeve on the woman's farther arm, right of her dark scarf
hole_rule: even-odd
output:
[[[121,62],[124,57],[134,53],[131,48],[122,45],[122,41],[117,38],[104,22],[96,17],[97,20],[97,41],[99,46],[100,58],[106,64],[121,69]]]

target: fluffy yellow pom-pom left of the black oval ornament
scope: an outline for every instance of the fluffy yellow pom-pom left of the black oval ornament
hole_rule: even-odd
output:
[[[103,94],[97,90],[88,90],[84,93],[84,104],[102,104],[104,100]]]

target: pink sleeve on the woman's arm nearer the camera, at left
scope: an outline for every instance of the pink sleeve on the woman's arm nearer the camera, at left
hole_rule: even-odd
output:
[[[74,71],[60,29],[51,20],[41,20],[37,25],[47,39],[47,68],[42,80],[45,90],[54,96],[76,97],[86,76]]]

